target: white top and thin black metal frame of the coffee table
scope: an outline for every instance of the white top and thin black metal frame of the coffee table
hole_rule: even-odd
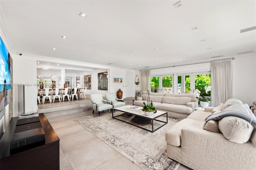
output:
[[[153,113],[152,115],[150,116],[147,116],[147,115],[144,115],[144,113],[139,113],[139,112],[136,112],[136,111],[132,111],[132,110],[128,110],[126,109],[126,107],[130,107],[130,105],[126,105],[126,106],[121,106],[121,107],[116,107],[116,108],[113,108],[112,109],[112,118],[114,119],[117,119],[119,121],[122,121],[122,122],[125,122],[125,123],[128,123],[130,125],[133,125],[133,126],[136,126],[136,127],[139,127],[140,129],[144,129],[146,131],[150,131],[150,132],[154,132],[158,129],[160,129],[161,127],[163,127],[164,125],[166,125],[168,123],[168,113],[167,112],[164,112],[164,111],[157,111],[156,113]],[[121,114],[120,115],[116,115],[114,116],[114,111],[117,110],[117,111],[122,111],[124,113],[129,113],[129,114],[132,114],[132,115],[136,115],[136,116],[139,116],[139,117],[143,117],[143,118],[146,118],[146,119],[150,119],[151,122],[152,122],[152,131],[149,130],[149,129],[146,129],[146,128],[143,128],[141,126],[138,126],[138,125],[135,125],[133,123],[130,123],[130,122],[127,122],[127,121],[123,121],[121,119],[118,119],[119,116],[122,116]],[[157,120],[156,118],[160,117],[160,116],[163,116],[163,115],[166,115],[166,122],[165,121],[160,121],[160,120]],[[160,122],[163,122],[164,124],[161,125],[160,127],[154,129],[154,121],[160,121]]]

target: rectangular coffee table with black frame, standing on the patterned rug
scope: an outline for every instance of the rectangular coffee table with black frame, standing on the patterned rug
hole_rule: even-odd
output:
[[[156,113],[153,113],[152,115],[147,116],[141,111],[142,107],[136,106],[138,107],[136,108],[136,111],[134,111],[130,107],[132,106],[126,105],[126,106],[113,108],[112,118],[123,121],[130,125],[134,125],[136,127],[139,127],[146,131],[150,131],[152,133],[168,123],[168,113],[166,111],[158,110]],[[163,117],[164,115],[166,117]],[[138,123],[134,123],[135,118],[146,119],[146,121],[149,121],[150,123],[145,125],[140,125]]]

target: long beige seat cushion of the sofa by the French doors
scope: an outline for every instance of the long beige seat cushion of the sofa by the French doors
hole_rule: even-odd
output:
[[[162,104],[158,104],[157,108],[160,110],[172,111],[172,112],[183,113],[183,114],[190,114],[193,112],[193,109],[191,107],[187,107],[186,105],[179,105],[179,104],[162,103]]]

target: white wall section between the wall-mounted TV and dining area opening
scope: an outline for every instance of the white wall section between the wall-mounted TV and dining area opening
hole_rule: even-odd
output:
[[[36,59],[12,55],[13,84],[25,84],[25,112],[37,110]],[[32,84],[32,86],[30,86]],[[13,117],[18,114],[18,86],[13,86]]]

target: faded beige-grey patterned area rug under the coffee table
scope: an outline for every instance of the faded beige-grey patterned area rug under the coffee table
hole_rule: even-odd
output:
[[[144,170],[176,170],[180,164],[166,156],[165,133],[176,119],[168,118],[168,124],[154,133],[113,119],[110,113],[75,121]]]

